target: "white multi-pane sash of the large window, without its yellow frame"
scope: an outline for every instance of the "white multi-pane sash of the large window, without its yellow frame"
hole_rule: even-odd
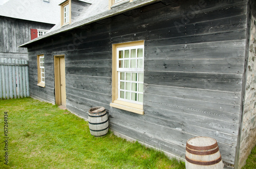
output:
[[[144,45],[117,48],[118,100],[143,103]]]

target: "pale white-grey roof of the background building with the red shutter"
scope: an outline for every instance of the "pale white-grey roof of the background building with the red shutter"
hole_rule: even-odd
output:
[[[44,0],[4,0],[0,3],[0,16],[56,24],[60,20],[59,2],[60,0],[49,0],[49,3]]]

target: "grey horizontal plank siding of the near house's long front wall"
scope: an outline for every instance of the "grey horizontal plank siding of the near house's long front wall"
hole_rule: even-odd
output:
[[[54,103],[53,55],[65,54],[67,108],[77,115],[103,106],[112,130],[181,157],[188,138],[210,136],[234,164],[246,32],[246,1],[148,5],[34,43],[30,94]],[[112,44],[137,40],[145,40],[145,115],[109,105]],[[37,54],[45,54],[46,88],[36,86]]]

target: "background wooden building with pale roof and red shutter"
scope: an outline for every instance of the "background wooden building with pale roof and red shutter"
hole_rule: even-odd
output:
[[[56,1],[0,2],[0,58],[28,59],[27,48],[18,46],[41,36],[58,21]]]

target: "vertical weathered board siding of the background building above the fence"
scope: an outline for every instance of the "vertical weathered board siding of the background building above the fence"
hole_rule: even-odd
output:
[[[31,40],[30,29],[50,30],[52,26],[54,24],[0,16],[0,58],[18,58],[17,53],[22,53],[24,58],[27,48],[18,46]]]

